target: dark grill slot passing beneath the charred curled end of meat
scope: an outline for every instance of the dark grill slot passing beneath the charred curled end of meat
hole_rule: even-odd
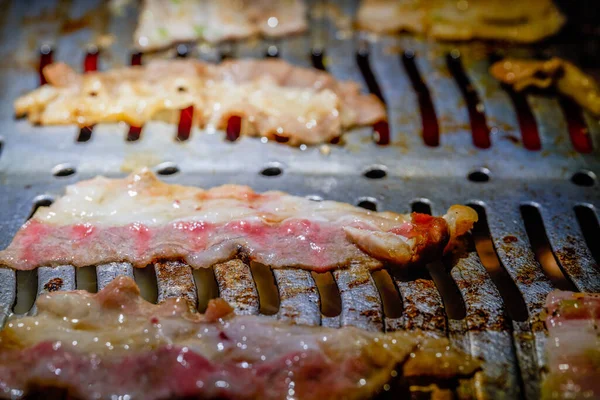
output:
[[[431,206],[424,201],[416,201],[412,204],[412,211],[431,215]],[[431,279],[442,296],[444,309],[449,319],[461,320],[467,316],[465,302],[456,286],[456,282],[450,276],[446,267],[441,262],[433,262],[427,265]]]

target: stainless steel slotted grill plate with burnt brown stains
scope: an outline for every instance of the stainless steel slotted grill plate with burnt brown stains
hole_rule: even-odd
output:
[[[477,205],[485,213],[500,272],[507,273],[516,291],[495,285],[497,280],[492,279],[492,271],[488,272],[482,264],[482,253],[472,249],[457,260],[430,265],[418,276],[393,276],[394,290],[397,289],[402,303],[399,313],[384,306],[385,288],[376,285],[372,274],[360,266],[336,271],[333,278],[341,312],[326,316],[321,309],[322,303],[328,301],[328,294],[323,285],[317,285],[320,277],[301,270],[279,269],[272,274],[278,291],[275,317],[331,327],[419,329],[448,336],[457,346],[484,360],[483,371],[473,382],[461,382],[453,389],[460,398],[539,397],[546,339],[540,312],[555,284],[544,273],[539,257],[536,258],[521,207],[531,205],[539,211],[549,247],[566,275],[566,284],[581,291],[599,292],[598,260],[586,246],[586,239],[597,246],[598,236],[588,234],[584,238],[574,212],[575,206],[587,207],[597,220],[600,189],[595,174],[600,171],[600,126],[596,119],[584,114],[593,152],[581,154],[569,140],[568,121],[558,100],[540,94],[528,95],[526,101],[537,122],[541,150],[527,150],[521,142],[519,120],[509,95],[487,72],[489,61],[481,54],[489,49],[476,44],[427,43],[404,36],[370,41],[338,29],[315,12],[310,34],[274,42],[199,47],[190,56],[211,61],[225,53],[231,57],[263,57],[270,46],[275,46],[280,57],[310,66],[311,49],[316,48],[325,54],[321,60],[324,67],[337,78],[352,79],[363,84],[365,91],[369,87],[373,90],[373,82],[365,81],[357,63],[360,50],[363,55],[368,54],[374,81],[387,104],[390,145],[376,145],[370,128],[348,133],[343,145],[330,145],[328,149],[290,148],[247,137],[227,142],[221,132],[207,134],[197,128],[192,128],[188,140],[177,141],[177,127],[160,122],[146,124],[136,141],[126,140],[128,126],[102,124],[93,127],[88,141],[78,142],[76,127],[35,127],[15,120],[13,100],[38,83],[38,71],[27,66],[31,62],[37,65],[40,46],[52,45],[55,60],[77,66],[83,63],[86,46],[97,42],[98,35],[112,35],[114,43],[100,53],[99,69],[129,63],[135,10],[127,9],[123,15],[107,19],[102,17],[105,15],[100,11],[102,4],[100,0],[15,1],[2,11],[0,54],[5,60],[0,69],[2,247],[8,245],[36,205],[48,204],[53,196],[63,192],[65,185],[98,174],[122,176],[144,165],[155,168],[165,181],[172,183],[203,187],[238,183],[258,191],[279,189],[315,196],[316,200],[353,204],[367,199],[369,207],[378,210],[404,213],[419,203],[429,205],[434,214],[442,214],[454,203]],[[313,10],[318,11],[321,6],[315,4]],[[353,4],[341,3],[339,7],[352,15]],[[90,12],[96,12],[106,24],[61,33],[65,18],[73,20]],[[44,15],[45,18],[39,17]],[[27,22],[33,20],[37,23]],[[85,18],[80,21],[85,22]],[[401,60],[406,51],[415,54],[416,66],[437,115],[440,133],[437,147],[425,145],[421,137],[418,92]],[[524,47],[503,51],[532,54],[532,49]],[[467,90],[474,90],[481,100],[475,106],[490,128],[488,149],[473,144],[472,116],[448,69],[448,54],[455,58],[460,55],[472,85]],[[265,171],[267,168],[270,171]],[[160,301],[183,296],[196,302],[206,296],[202,291],[206,282],[216,280],[218,294],[238,312],[264,311],[268,294],[257,288],[254,269],[243,258],[215,265],[214,278],[206,273],[196,274],[177,261],[165,260],[153,268],[155,278],[141,271],[134,274],[131,265],[125,263],[96,266],[97,288],[104,287],[117,275],[135,275],[138,282],[151,283],[143,285],[151,298]],[[83,287],[89,285],[86,276],[72,266],[42,267],[37,270],[37,288],[32,290],[39,295],[50,290]],[[17,298],[23,298],[26,304],[28,287],[35,286],[35,281],[32,274],[15,274],[0,268],[0,322],[12,312]],[[460,296],[453,297],[452,290]],[[511,293],[514,298],[510,298]],[[524,304],[525,318],[510,312],[512,301]],[[452,318],[446,310],[450,311],[455,303],[464,307],[457,318]]]

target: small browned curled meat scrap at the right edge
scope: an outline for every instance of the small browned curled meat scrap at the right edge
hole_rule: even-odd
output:
[[[568,61],[560,58],[548,61],[505,59],[494,63],[490,72],[517,91],[528,87],[555,88],[600,116],[600,87],[594,78]]]

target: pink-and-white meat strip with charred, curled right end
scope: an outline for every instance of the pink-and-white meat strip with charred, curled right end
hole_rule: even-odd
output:
[[[476,220],[473,209],[460,205],[443,217],[372,212],[246,186],[166,184],[143,170],[68,186],[23,225],[0,252],[0,264],[144,267],[157,258],[182,258],[200,268],[242,254],[276,268],[406,267],[440,257]]]

